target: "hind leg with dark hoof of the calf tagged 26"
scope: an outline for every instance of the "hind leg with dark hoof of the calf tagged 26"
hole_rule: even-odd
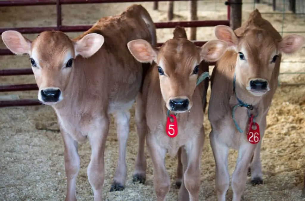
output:
[[[257,144],[257,147],[255,148],[253,160],[250,166],[251,183],[253,185],[263,184],[262,165],[260,161],[260,146],[263,141],[265,129],[266,129],[266,118],[263,118],[262,122],[260,123],[260,142]]]

